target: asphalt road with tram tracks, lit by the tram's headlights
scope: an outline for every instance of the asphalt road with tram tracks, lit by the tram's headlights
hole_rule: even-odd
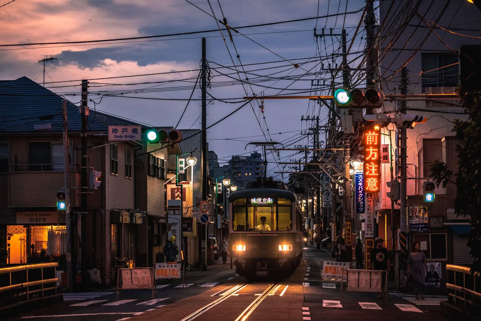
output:
[[[339,282],[319,280],[322,261],[332,260],[330,254],[309,244],[304,248],[304,260],[293,276],[280,282],[260,277],[247,283],[235,270],[230,270],[230,264],[219,261],[207,271],[187,272],[187,287],[182,287],[180,280],[159,283],[158,296],[154,293],[153,299],[150,290],[123,291],[118,300],[115,290],[65,294],[61,304],[20,312],[7,321],[179,321],[183,315],[239,289],[196,318],[196,321],[219,317],[234,321],[273,284],[276,286],[256,306],[249,320],[445,320],[439,311],[439,301],[447,297],[426,295],[426,300],[415,300],[412,295],[392,291],[386,305],[372,293],[343,292],[341,299]],[[245,286],[241,288],[242,285]]]

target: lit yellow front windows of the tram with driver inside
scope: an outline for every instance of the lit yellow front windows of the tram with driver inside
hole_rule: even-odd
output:
[[[251,205],[234,201],[234,231],[291,231],[291,201],[279,199],[278,204]]]

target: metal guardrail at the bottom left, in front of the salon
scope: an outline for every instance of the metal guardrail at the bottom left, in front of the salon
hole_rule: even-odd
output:
[[[57,294],[58,262],[0,268],[0,302]]]

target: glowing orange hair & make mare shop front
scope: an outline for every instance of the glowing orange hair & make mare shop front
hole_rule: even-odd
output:
[[[17,211],[3,216],[8,264],[65,261],[65,215],[58,211]],[[3,225],[2,224],[2,225]]]

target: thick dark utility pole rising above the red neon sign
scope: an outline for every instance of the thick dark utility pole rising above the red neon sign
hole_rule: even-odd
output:
[[[366,87],[376,85],[376,69],[378,67],[378,51],[376,48],[376,15],[374,14],[374,0],[367,0],[369,7],[366,13]],[[376,114],[375,108],[366,108],[366,115]]]

